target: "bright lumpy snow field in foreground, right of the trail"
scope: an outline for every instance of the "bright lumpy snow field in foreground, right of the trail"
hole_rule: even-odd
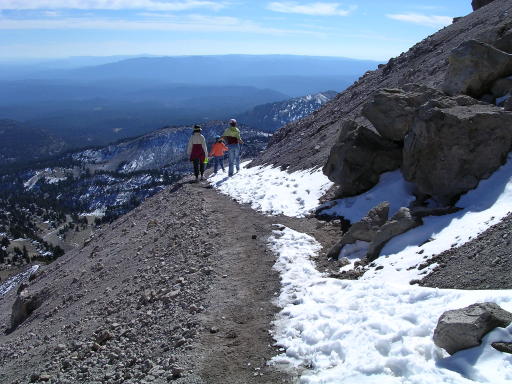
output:
[[[489,345],[512,341],[512,326],[452,357],[432,341],[445,310],[495,301],[512,311],[510,292],[326,278],[311,261],[320,245],[288,228],[274,231],[269,246],[282,279],[274,337],[285,350],[272,363],[308,368],[302,383],[512,382],[512,356]]]

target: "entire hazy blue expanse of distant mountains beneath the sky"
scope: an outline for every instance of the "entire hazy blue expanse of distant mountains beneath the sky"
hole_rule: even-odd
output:
[[[90,65],[80,66],[84,64]],[[268,106],[244,113],[326,89],[341,91],[377,63],[287,55],[75,58],[20,63],[14,68],[22,74],[9,65],[0,63],[0,119],[23,122],[25,129],[46,132],[46,141],[57,138],[66,148],[78,149],[139,136],[155,127],[237,115],[272,132],[310,113],[316,101],[298,107],[300,114],[283,112],[270,120],[263,116],[261,123],[256,116]],[[286,108],[292,106],[276,106],[272,113]],[[36,142],[38,136],[29,140]]]

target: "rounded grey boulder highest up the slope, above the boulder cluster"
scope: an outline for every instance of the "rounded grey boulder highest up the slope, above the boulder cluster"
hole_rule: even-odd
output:
[[[448,61],[443,90],[449,95],[480,97],[494,81],[512,75],[512,54],[476,40],[459,45]]]

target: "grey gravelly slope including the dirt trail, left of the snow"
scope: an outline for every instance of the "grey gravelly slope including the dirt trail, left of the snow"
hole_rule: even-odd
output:
[[[0,381],[291,382],[266,365],[276,219],[205,187],[185,181],[97,231],[31,278],[14,317],[16,289],[1,296]],[[278,220],[329,241],[314,219]]]

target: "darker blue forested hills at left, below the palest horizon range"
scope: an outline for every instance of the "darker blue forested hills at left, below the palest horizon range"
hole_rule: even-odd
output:
[[[0,82],[0,116],[44,129],[70,148],[105,145],[155,127],[226,119],[286,99],[280,92],[245,86]]]

